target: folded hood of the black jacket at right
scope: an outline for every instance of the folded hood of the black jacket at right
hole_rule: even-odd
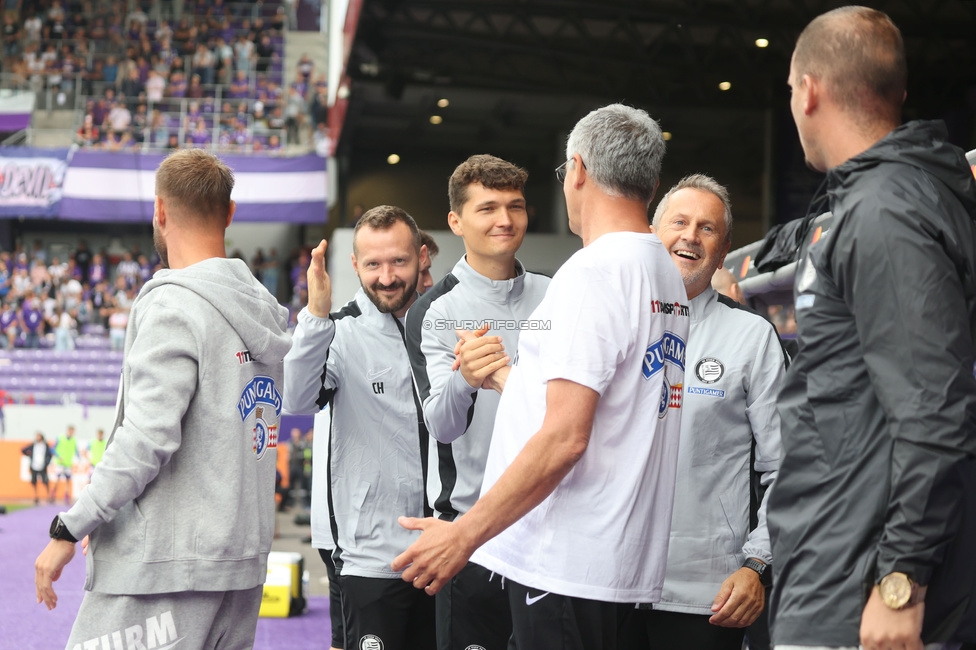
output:
[[[851,174],[886,162],[911,165],[938,178],[976,220],[976,179],[963,151],[948,142],[943,122],[902,124],[867,151],[830,170],[828,182],[831,189],[843,187]]]

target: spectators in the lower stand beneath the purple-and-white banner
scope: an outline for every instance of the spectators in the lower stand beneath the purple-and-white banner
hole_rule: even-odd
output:
[[[232,256],[244,259],[240,252]],[[258,249],[249,266],[297,314],[308,301],[308,262],[307,249],[286,260],[274,249]],[[112,349],[121,350],[132,303],[159,268],[158,256],[137,245],[110,254],[91,251],[82,240],[64,258],[49,256],[40,241],[29,251],[0,251],[0,348],[38,348],[53,335],[54,349],[72,350],[84,331],[107,334]]]

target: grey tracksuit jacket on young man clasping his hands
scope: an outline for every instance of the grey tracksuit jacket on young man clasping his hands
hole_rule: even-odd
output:
[[[489,280],[462,257],[407,312],[407,349],[431,436],[427,498],[441,519],[453,521],[481,494],[501,397],[471,388],[460,371],[451,370],[455,330],[494,321],[488,334],[501,336],[514,357],[519,328],[544,327],[527,319],[542,302],[549,278],[524,271],[518,261],[516,270],[511,280]]]

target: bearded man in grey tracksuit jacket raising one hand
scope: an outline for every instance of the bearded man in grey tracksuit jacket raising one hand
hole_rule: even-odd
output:
[[[429,512],[427,431],[403,338],[427,249],[402,209],[367,211],[353,235],[352,264],[362,287],[332,314],[325,250],[323,241],[312,251],[308,307],[298,315],[285,357],[284,407],[290,413],[332,407],[328,455],[315,457],[316,464],[327,464],[328,490],[320,492],[313,482],[312,512],[316,519],[332,516],[344,647],[432,650],[433,599],[390,569],[416,538],[397,525],[397,516]]]

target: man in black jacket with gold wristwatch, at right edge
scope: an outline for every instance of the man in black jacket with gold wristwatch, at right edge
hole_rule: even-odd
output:
[[[976,182],[944,125],[901,125],[905,80],[898,28],[864,7],[815,19],[790,66],[833,224],[802,239],[779,400],[780,649],[976,640]]]

